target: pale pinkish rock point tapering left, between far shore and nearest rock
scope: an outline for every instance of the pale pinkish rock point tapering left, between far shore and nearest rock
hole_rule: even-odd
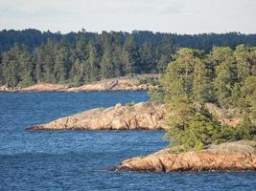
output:
[[[164,128],[163,120],[163,105],[140,102],[88,110],[46,124],[35,125],[28,130],[156,130]]]

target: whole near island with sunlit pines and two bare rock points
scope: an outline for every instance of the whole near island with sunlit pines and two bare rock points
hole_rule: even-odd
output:
[[[166,131],[168,148],[126,159],[112,170],[256,170],[254,50],[180,49],[151,88],[150,102],[96,108],[28,130]]]

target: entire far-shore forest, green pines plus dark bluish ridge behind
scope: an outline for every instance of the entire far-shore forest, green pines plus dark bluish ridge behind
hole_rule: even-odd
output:
[[[179,35],[161,32],[0,32],[0,84],[81,85],[115,76],[163,73],[179,48],[256,46],[256,34]]]

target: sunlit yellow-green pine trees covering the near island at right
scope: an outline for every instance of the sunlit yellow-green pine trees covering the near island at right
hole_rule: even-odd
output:
[[[167,138],[174,152],[256,139],[256,47],[215,47],[210,53],[180,49],[151,98],[168,105]],[[242,122],[236,126],[221,124],[205,108],[209,102],[226,113],[232,111],[230,117],[243,117]]]

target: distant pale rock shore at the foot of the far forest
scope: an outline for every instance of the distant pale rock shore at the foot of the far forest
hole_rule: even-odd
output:
[[[68,84],[37,83],[29,87],[12,88],[8,84],[0,86],[0,92],[102,92],[102,91],[147,91],[150,84],[141,82],[147,77],[155,77],[152,74],[138,75],[137,77],[117,77],[105,79],[79,87]]]

